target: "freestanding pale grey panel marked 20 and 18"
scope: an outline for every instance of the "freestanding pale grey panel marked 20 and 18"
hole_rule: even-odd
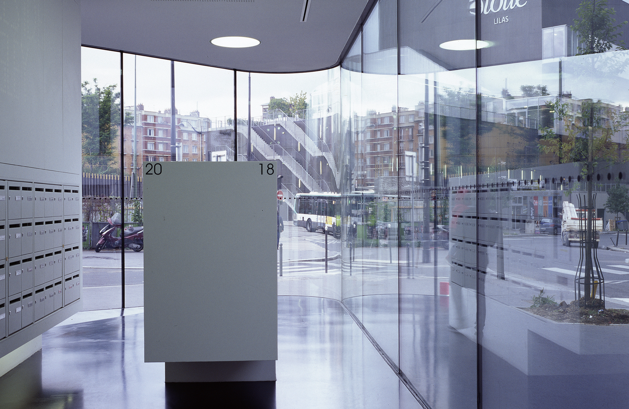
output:
[[[277,359],[277,164],[143,164],[145,361]]]

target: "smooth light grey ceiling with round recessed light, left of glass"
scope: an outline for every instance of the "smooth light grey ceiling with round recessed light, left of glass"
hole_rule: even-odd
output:
[[[256,72],[298,72],[337,64],[370,0],[82,0],[82,43]],[[210,43],[260,40],[250,48]]]

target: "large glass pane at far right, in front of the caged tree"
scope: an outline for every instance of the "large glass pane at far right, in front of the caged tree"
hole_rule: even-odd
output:
[[[626,391],[612,379],[627,374],[620,315],[627,315],[629,270],[626,253],[606,250],[619,244],[606,229],[625,217],[613,203],[626,201],[629,54],[613,51],[625,25],[611,19],[626,20],[629,6],[520,6],[508,24],[540,17],[543,50],[531,40],[508,55],[508,44],[532,30],[516,23],[506,40],[481,50],[481,61],[491,55],[496,65],[477,71],[482,119],[471,189],[477,243],[487,245],[477,255],[482,403],[622,407]],[[565,25],[579,34],[582,55],[559,59],[574,49],[565,44],[572,41]],[[481,40],[496,38],[481,33]]]

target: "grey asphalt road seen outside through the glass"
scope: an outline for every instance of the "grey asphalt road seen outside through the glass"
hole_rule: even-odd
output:
[[[609,240],[608,235],[603,235],[603,245],[605,240]],[[323,233],[306,232],[304,228],[286,223],[280,242],[283,249],[283,276],[308,279],[325,274],[325,262],[322,259],[326,254],[326,244]],[[327,245],[328,257],[343,253],[343,259],[348,260],[347,242],[328,235]],[[556,300],[569,301],[574,298],[574,274],[579,265],[579,247],[562,246],[559,235],[522,235],[504,236],[503,248],[504,276],[508,282],[504,285],[509,286],[509,291],[513,292],[513,288],[520,287],[525,292],[534,293],[543,288],[548,295],[555,295]],[[407,254],[411,257],[410,263],[407,262]],[[496,277],[496,247],[489,247],[488,254],[487,272]],[[143,252],[130,252],[126,256],[127,266],[136,268],[125,269],[125,285],[133,286],[134,291],[141,293],[144,274],[143,269],[137,267],[143,265]],[[422,249],[389,249],[384,242],[381,242],[380,247],[356,247],[352,274],[362,274],[367,278],[423,277],[446,281],[450,274],[448,250],[430,249],[429,258],[424,257]],[[611,301],[629,306],[629,263],[625,263],[625,259],[629,259],[629,253],[598,250],[606,298],[613,298]],[[119,252],[84,252],[83,285],[84,288],[91,289],[85,295],[96,294],[99,289],[109,288],[112,291],[115,287],[120,288],[120,267],[116,267],[119,263]],[[342,266],[340,257],[335,257],[328,261],[327,274],[340,274],[342,271],[343,274],[349,274],[349,268],[347,262]]]

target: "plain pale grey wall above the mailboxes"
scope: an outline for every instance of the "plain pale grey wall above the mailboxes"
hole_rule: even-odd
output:
[[[81,8],[0,3],[0,179],[80,184]]]

